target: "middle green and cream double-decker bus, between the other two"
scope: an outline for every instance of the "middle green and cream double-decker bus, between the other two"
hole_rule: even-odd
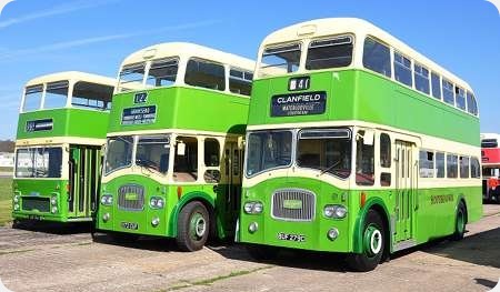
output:
[[[183,251],[234,234],[254,62],[171,42],[121,64],[97,229],[176,238]]]

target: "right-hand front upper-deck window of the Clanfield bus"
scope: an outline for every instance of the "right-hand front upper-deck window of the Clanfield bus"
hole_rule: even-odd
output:
[[[318,70],[347,67],[352,62],[352,37],[312,41],[309,44],[306,69]]]

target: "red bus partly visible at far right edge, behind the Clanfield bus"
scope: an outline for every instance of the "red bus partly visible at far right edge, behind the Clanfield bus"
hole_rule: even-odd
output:
[[[500,201],[500,134],[481,133],[482,199]]]

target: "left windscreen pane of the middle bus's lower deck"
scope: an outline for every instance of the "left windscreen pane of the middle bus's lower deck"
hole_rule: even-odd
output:
[[[104,173],[130,167],[132,164],[133,138],[131,135],[108,139]]]

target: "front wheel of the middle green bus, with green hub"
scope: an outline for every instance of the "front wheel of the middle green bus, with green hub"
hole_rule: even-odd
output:
[[[201,202],[188,203],[179,213],[177,245],[181,251],[201,250],[210,233],[209,213]]]

